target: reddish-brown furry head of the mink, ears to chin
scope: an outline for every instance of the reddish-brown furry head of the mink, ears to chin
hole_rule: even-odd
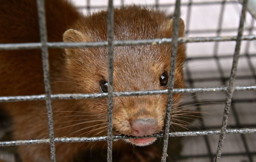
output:
[[[173,19],[163,13],[139,7],[115,9],[114,40],[137,40],[172,37]],[[180,19],[179,37],[184,35]],[[107,40],[106,12],[80,20],[63,34],[65,42],[98,42]],[[171,45],[134,45],[114,47],[114,91],[167,89]],[[66,49],[67,68],[79,82],[83,93],[107,92],[107,47]],[[184,88],[183,62],[185,45],[178,44],[174,88]],[[177,104],[181,94],[174,94]],[[126,96],[113,98],[113,130],[126,135],[150,135],[162,131],[167,95]],[[86,111],[107,114],[107,98],[88,99]],[[150,144],[154,139],[131,139],[136,145]]]

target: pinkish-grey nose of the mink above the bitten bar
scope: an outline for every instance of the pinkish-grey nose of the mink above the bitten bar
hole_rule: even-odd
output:
[[[143,136],[151,135],[155,132],[157,121],[153,118],[141,118],[132,121],[133,135]]]

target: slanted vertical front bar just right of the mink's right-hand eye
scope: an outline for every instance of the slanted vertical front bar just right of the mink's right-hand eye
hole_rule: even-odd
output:
[[[173,100],[173,85],[174,85],[174,72],[176,65],[177,57],[177,46],[178,46],[178,30],[179,30],[179,18],[180,17],[180,0],[176,0],[175,11],[174,11],[174,20],[173,20],[173,31],[172,31],[172,49],[170,56],[170,72],[169,72],[169,81],[168,81],[168,96],[167,96],[167,107],[165,115],[165,127],[164,127],[164,145],[161,161],[165,162],[167,155],[168,147],[168,134],[170,129],[170,119],[172,111],[172,100]]]

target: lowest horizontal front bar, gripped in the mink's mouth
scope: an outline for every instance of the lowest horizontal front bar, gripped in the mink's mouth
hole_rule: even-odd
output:
[[[243,128],[243,129],[227,129],[226,134],[244,134],[244,133],[256,133],[256,128]],[[220,134],[220,130],[205,130],[205,131],[185,131],[185,132],[172,132],[169,133],[169,137],[182,137],[182,136],[202,136],[202,135],[214,135]],[[152,134],[147,136],[127,136],[127,135],[113,135],[113,140],[123,139],[137,139],[146,137],[163,137],[163,133]],[[106,141],[107,136],[99,137],[70,137],[70,138],[55,138],[55,142],[95,142]],[[16,146],[16,145],[28,145],[28,144],[40,144],[49,143],[49,139],[36,139],[36,140],[17,140],[17,141],[2,141],[0,146]]]

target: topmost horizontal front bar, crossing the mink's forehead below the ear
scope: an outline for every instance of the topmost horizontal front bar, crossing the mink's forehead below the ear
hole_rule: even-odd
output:
[[[180,37],[179,43],[192,43],[192,42],[214,42],[214,41],[235,41],[237,36],[217,36],[217,37]],[[244,35],[242,40],[256,40],[256,35]],[[114,46],[128,46],[128,45],[158,45],[169,44],[172,38],[162,39],[148,39],[148,40],[125,40],[113,41]],[[47,42],[48,48],[88,48],[88,47],[106,47],[108,42]],[[0,44],[0,50],[17,50],[17,49],[39,49],[41,43],[5,43]]]

